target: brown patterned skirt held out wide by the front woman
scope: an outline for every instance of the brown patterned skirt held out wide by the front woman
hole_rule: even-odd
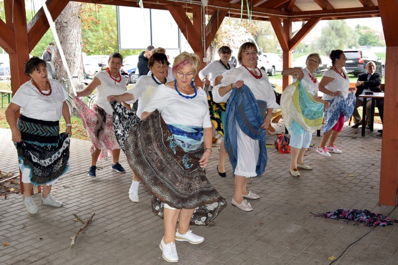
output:
[[[118,116],[114,120],[136,122],[136,116],[120,103],[111,105],[113,115]],[[116,135],[125,134],[122,139],[127,161],[135,176],[151,192],[152,211],[163,217],[163,205],[167,203],[177,209],[195,208],[191,224],[207,225],[214,220],[226,201],[199,166],[203,146],[185,152],[158,111],[129,130],[117,128],[120,124],[115,124]]]

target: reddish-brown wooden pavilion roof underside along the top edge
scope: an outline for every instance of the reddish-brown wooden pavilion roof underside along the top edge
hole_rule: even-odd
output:
[[[137,6],[136,0],[78,0],[81,2]],[[202,0],[205,2],[205,0]],[[179,5],[186,12],[201,6],[200,0],[144,0],[145,8],[168,9],[167,5]],[[249,1],[251,18],[269,20],[305,21],[311,18],[347,19],[380,16],[377,0],[253,0]],[[243,17],[247,18],[246,1]],[[241,17],[241,0],[207,0],[206,11],[225,11],[227,16]]]

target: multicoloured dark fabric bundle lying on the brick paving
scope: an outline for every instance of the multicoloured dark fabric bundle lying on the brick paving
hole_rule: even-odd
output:
[[[316,217],[324,217],[330,219],[345,219],[347,222],[354,221],[364,223],[365,226],[386,226],[392,225],[394,220],[384,214],[373,213],[369,210],[357,209],[337,209],[334,212],[316,213]]]

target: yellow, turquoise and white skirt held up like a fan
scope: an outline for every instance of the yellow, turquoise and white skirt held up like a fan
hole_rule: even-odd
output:
[[[323,103],[315,101],[299,80],[283,91],[281,110],[286,128],[297,135],[314,132],[323,122]]]

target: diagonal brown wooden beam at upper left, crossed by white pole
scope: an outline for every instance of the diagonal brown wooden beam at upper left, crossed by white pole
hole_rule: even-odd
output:
[[[51,17],[55,21],[59,14],[64,10],[69,0],[47,0],[47,8],[50,11]],[[34,17],[29,21],[27,25],[28,39],[29,39],[29,52],[34,49],[37,43],[41,40],[43,35],[50,28],[47,17],[44,14],[43,7],[37,11]]]

